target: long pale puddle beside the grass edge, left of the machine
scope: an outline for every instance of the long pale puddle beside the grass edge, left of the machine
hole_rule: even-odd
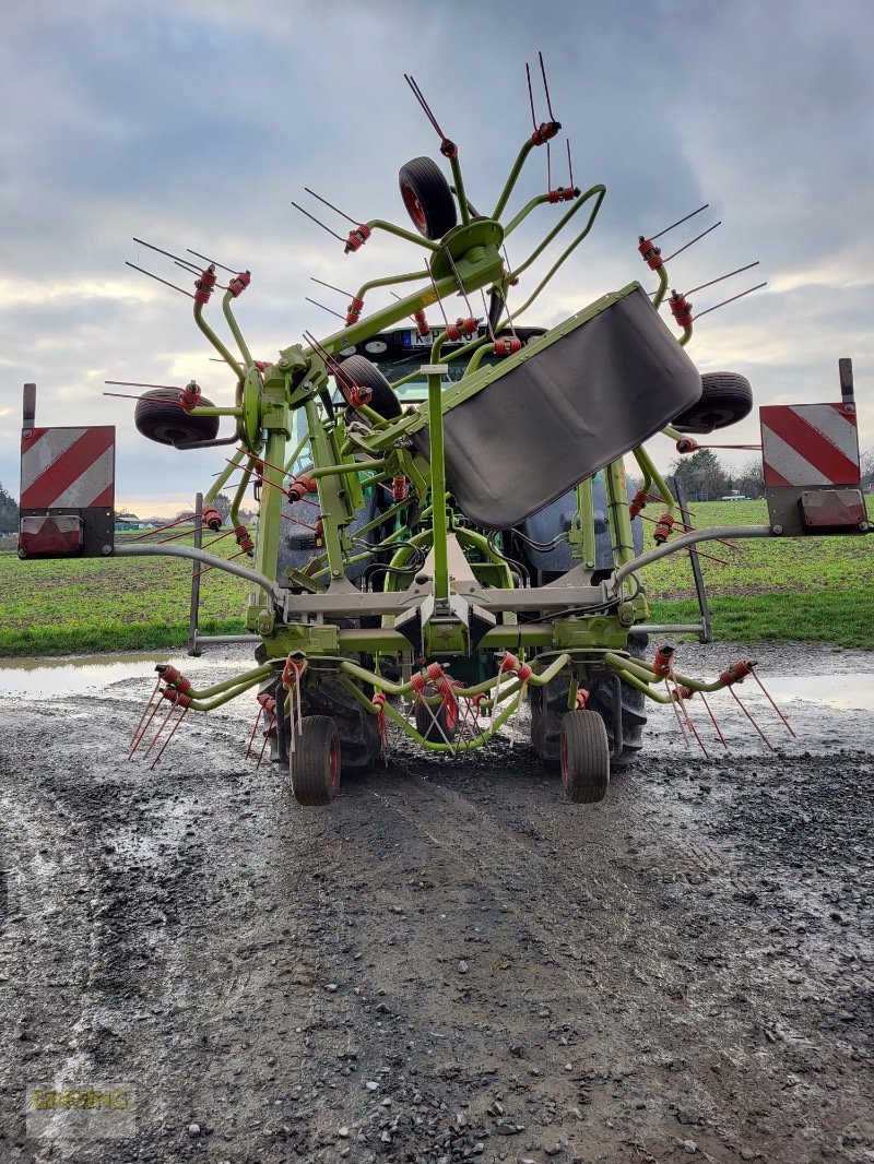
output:
[[[0,698],[58,698],[103,689],[128,679],[155,681],[155,665],[169,662],[186,675],[203,670],[245,670],[253,666],[251,655],[228,660],[204,654],[155,651],[125,655],[76,655],[65,659],[7,659],[0,662]]]

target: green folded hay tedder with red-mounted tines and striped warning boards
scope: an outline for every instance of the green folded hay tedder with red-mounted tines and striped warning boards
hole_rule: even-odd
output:
[[[669,704],[682,733],[706,750],[705,724],[725,743],[707,694],[735,694],[745,677],[757,679],[745,659],[702,682],[676,670],[671,646],[648,658],[649,637],[709,637],[704,603],[696,624],[649,620],[649,563],[684,552],[697,570],[695,547],[705,540],[867,532],[851,364],[840,361],[839,403],[761,410],[769,523],[693,530],[646,442],[661,433],[693,452],[696,435],[742,419],[753,400],[742,376],[702,376],[689,357],[697,317],[691,292],[668,293],[660,235],[639,240],[649,292],[632,283],[548,331],[516,327],[592,229],[606,189],[583,191],[572,173],[554,186],[548,164],[545,191],[509,212],[523,166],[538,150],[549,156],[561,129],[544,72],[548,120],[538,123],[531,98],[534,129],[496,203],[480,213],[456,144],[407,79],[443,159],[401,168],[415,232],[350,219],[348,234],[336,237],[353,255],[383,232],[420,260],[344,292],[333,334],[308,333],[274,361],[256,360],[234,314],[249,271],[162,251],[196,276],[184,293],[234,384],[233,402],[220,406],[193,382],[136,398],[145,436],[228,454],[198,497],[195,544],[115,542],[114,430],[37,428],[27,385],[20,554],[191,559],[191,653],[228,641],[198,632],[200,573],[218,568],[251,583],[239,638],[256,646],[254,665],[202,690],[158,666],[132,754],[156,762],[185,715],[249,694],[258,708],[249,750],[261,755],[269,745],[297,801],[326,804],[341,771],[368,768],[400,736],[432,753],[466,752],[527,700],[540,760],[561,768],[571,801],[595,802],[611,766],[640,750],[647,701]],[[510,263],[507,241],[545,214],[554,218],[542,241]],[[530,279],[559,234],[564,249]],[[217,292],[227,340],[206,318]],[[390,301],[371,310],[386,292]],[[665,304],[676,336],[660,315]],[[228,435],[219,435],[224,418]],[[642,478],[636,491],[627,455]],[[240,518],[251,487],[255,531]],[[225,531],[221,492],[232,497]],[[648,516],[655,548],[643,553]],[[231,558],[203,541],[231,533],[239,546]],[[704,709],[697,724],[690,704]]]

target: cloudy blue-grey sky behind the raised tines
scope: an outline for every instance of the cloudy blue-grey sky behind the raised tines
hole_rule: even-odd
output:
[[[312,205],[309,185],[355,218],[408,225],[397,170],[438,156],[408,72],[459,144],[468,197],[493,205],[530,134],[524,65],[538,49],[573,179],[605,183],[607,199],[521,321],[559,322],[634,278],[653,286],[637,235],[709,201],[664,240],[668,254],[723,220],[671,264],[671,284],[689,289],[757,258],[693,297],[695,308],[768,286],[702,319],[690,355],[703,371],[743,372],[759,404],[838,398],[838,357],[852,356],[861,445],[874,446],[871,0],[10,0],[0,44],[0,483],[17,496],[21,385],[36,381],[37,423],[118,426],[119,508],[190,503],[221,454],[146,441],[133,402],[105,398],[103,382],[195,377],[223,404],[233,383],[210,362],[191,301],[124,264],[183,285],[188,276],[132,236],[251,268],[239,318],[256,357],[304,329],[327,334],[338,321],[304,297],[315,290],[339,310],[345,299],[310,276],[353,289],[415,269],[421,251],[374,237],[345,256],[291,200]],[[561,139],[552,152],[563,182]],[[544,183],[537,151],[514,205]],[[556,213],[544,208],[533,229]],[[513,261],[523,240],[512,241]],[[719,439],[755,441],[757,421]],[[650,447],[662,466],[674,456],[663,438]]]

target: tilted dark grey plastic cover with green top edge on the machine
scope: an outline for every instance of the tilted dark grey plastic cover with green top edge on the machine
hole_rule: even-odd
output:
[[[467,385],[482,383],[464,395]],[[702,395],[698,369],[639,283],[533,340],[522,360],[446,392],[446,485],[506,530],[642,445]],[[410,434],[428,455],[428,430]]]

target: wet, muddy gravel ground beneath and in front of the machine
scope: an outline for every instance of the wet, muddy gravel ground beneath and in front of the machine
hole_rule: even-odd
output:
[[[150,686],[0,707],[2,1164],[874,1159],[864,700],[791,740],[747,686],[778,751],[734,707],[711,761],[656,708],[595,807],[522,723],[304,810],[248,703],[127,762]],[[118,1109],[35,1109],[89,1087]]]

